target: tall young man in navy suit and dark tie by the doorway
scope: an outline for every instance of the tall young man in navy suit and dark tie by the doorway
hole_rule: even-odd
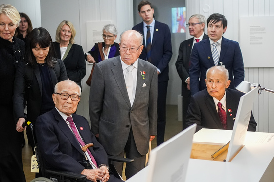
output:
[[[144,35],[143,45],[145,48],[140,58],[151,62],[157,67],[157,145],[160,145],[164,142],[166,122],[166,94],[169,80],[168,63],[172,57],[171,34],[166,24],[154,20],[154,9],[150,2],[141,1],[138,5],[138,11],[143,22],[137,24],[132,29]]]

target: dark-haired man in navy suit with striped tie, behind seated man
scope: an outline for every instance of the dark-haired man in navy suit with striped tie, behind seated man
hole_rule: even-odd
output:
[[[224,65],[231,81],[229,88],[235,89],[244,80],[245,70],[239,43],[224,38],[227,20],[224,15],[214,13],[207,19],[209,39],[194,45],[189,68],[190,91],[194,95],[206,88],[206,70],[215,65]],[[199,80],[200,78],[200,80]]]

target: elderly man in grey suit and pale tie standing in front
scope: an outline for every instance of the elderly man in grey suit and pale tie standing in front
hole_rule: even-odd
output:
[[[122,33],[120,56],[96,65],[90,88],[91,130],[109,155],[135,160],[126,166],[127,179],[144,168],[157,133],[157,68],[139,59],[142,43],[139,32]],[[123,163],[114,165],[122,174]]]

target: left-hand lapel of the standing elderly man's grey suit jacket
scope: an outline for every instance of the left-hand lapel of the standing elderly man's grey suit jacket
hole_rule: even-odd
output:
[[[116,57],[116,59],[113,61],[114,66],[111,68],[111,70],[125,101],[127,102],[128,106],[131,107],[120,58],[120,56]]]

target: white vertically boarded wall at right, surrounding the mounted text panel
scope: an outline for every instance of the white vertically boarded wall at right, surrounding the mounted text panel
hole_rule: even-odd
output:
[[[200,7],[209,5],[210,13],[204,12],[203,8],[197,12],[196,8],[191,7],[194,2],[186,0],[187,15],[200,13],[206,18],[213,12],[225,15],[228,20],[228,28],[224,37],[235,41],[239,41],[240,17],[274,15],[274,0],[200,0],[199,2]],[[270,41],[274,41],[273,38]],[[274,61],[274,59],[269,58],[269,61]],[[245,68],[245,81],[259,83],[262,87],[274,90],[274,68]],[[253,115],[258,123],[257,131],[274,132],[273,111],[274,94],[262,91],[262,94],[256,96],[253,106]]]

